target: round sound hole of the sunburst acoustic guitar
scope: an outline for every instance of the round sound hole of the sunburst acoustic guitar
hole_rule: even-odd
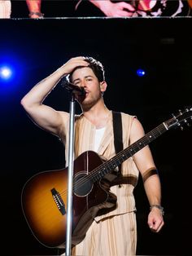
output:
[[[76,174],[73,182],[73,192],[76,196],[87,196],[94,186],[85,173]]]

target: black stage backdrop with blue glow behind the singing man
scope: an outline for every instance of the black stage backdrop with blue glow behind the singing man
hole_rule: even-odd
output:
[[[191,27],[190,18],[0,20],[0,61],[15,67],[11,82],[0,81],[2,255],[58,253],[32,235],[20,196],[33,174],[64,166],[64,148],[33,124],[20,99],[72,56],[91,55],[106,70],[107,107],[137,115],[150,131],[192,104]],[[137,77],[137,68],[146,76]],[[68,111],[68,92],[56,86],[46,104]],[[190,255],[191,127],[168,131],[151,143],[151,151],[162,181],[165,225],[159,234],[147,227],[149,205],[140,179],[137,254]]]

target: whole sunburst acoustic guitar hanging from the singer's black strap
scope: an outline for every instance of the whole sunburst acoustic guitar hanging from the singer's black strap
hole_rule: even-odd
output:
[[[185,123],[189,125],[189,119],[192,119],[192,107],[173,115],[108,161],[92,151],[76,158],[72,184],[72,246],[84,239],[94,217],[116,207],[116,196],[103,183],[103,177],[167,130]],[[46,247],[65,248],[67,194],[68,167],[35,174],[24,184],[21,196],[24,217],[33,236]]]

